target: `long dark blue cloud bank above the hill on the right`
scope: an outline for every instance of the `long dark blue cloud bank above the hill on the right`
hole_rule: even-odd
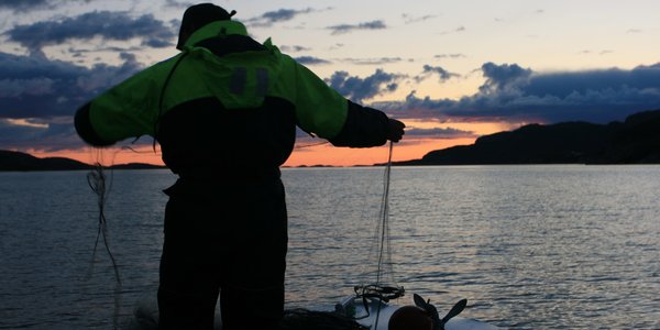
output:
[[[419,98],[375,105],[400,117],[609,122],[660,108],[660,64],[569,73],[534,73],[516,64],[486,63],[485,82],[459,100]],[[426,114],[421,114],[426,113]]]

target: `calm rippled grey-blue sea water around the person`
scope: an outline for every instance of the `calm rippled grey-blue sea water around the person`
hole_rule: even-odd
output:
[[[284,169],[287,307],[364,279],[383,168]],[[155,299],[174,183],[117,170],[99,250],[85,172],[0,173],[0,329],[110,329]],[[660,166],[393,168],[391,245],[408,293],[514,329],[660,329]],[[120,293],[119,295],[117,293]],[[399,304],[410,304],[410,295]]]

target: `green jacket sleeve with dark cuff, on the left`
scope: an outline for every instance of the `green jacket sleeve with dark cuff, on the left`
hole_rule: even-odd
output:
[[[155,73],[147,68],[80,107],[75,117],[78,135],[96,146],[153,135],[161,92]]]

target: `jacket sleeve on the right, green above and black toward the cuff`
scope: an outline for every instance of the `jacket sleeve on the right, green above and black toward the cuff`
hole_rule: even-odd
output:
[[[336,146],[385,144],[388,128],[385,113],[346,100],[300,64],[296,64],[296,116],[300,129]]]

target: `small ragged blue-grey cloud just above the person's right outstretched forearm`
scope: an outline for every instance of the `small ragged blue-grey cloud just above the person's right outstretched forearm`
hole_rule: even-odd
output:
[[[402,78],[400,75],[388,74],[382,69],[377,69],[364,79],[352,77],[346,72],[336,72],[327,82],[344,97],[361,102],[385,92],[395,91],[398,88],[397,81]]]

